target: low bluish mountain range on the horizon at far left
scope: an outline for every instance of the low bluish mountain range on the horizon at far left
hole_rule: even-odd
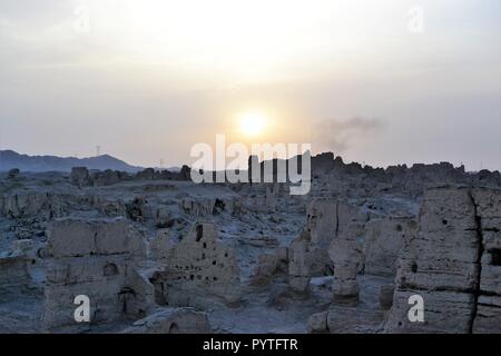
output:
[[[89,158],[58,157],[58,156],[28,156],[12,150],[0,150],[0,171],[19,168],[21,171],[70,171],[71,167],[87,167],[88,169],[112,169],[127,172],[137,172],[143,167],[130,166],[127,162],[102,155]]]

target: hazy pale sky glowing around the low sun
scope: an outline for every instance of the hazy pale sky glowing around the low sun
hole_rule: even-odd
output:
[[[501,169],[500,43],[499,0],[1,0],[0,149],[168,166],[227,134]]]

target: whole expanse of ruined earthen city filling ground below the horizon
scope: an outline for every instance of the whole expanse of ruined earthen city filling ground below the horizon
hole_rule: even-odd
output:
[[[188,167],[0,174],[0,332],[501,333],[499,172],[312,168],[306,196]]]

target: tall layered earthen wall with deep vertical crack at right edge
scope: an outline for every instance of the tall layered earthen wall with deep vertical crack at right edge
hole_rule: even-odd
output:
[[[501,276],[495,266],[500,197],[492,189],[436,187],[426,191],[419,231],[399,260],[386,332],[500,330],[500,290],[494,281]],[[423,297],[424,323],[409,320],[412,295]]]

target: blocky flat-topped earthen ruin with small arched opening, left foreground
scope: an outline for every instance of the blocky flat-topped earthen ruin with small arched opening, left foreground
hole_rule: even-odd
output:
[[[126,219],[59,219],[48,229],[46,329],[81,327],[73,318],[79,295],[90,299],[90,325],[146,316],[154,287],[137,267],[145,245]]]

